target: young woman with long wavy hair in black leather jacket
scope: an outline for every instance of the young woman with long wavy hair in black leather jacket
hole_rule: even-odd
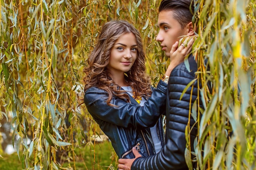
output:
[[[171,62],[166,75],[184,56]],[[139,31],[126,21],[113,20],[103,25],[84,69],[85,105],[119,158],[134,158],[134,146],[144,157],[164,146],[161,115],[168,76],[153,88],[144,58]]]

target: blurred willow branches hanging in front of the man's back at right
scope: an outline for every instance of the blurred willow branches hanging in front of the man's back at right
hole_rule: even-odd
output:
[[[255,169],[255,1],[202,0],[196,9],[195,52],[203,85],[198,93],[204,105],[193,116],[197,169]]]

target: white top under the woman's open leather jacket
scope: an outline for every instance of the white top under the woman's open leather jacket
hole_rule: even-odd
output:
[[[122,87],[125,91],[127,91],[127,93],[131,96],[133,96],[132,93],[132,88],[131,86],[123,86]],[[140,102],[140,106],[144,106],[144,103],[147,101],[146,99],[144,99],[144,97],[141,97],[142,100]],[[150,128],[150,132],[151,132],[151,136],[154,142],[154,146],[155,146],[155,152],[158,153],[161,149],[162,149],[162,145],[161,145],[161,141],[157,135],[157,124],[155,124],[155,126]]]

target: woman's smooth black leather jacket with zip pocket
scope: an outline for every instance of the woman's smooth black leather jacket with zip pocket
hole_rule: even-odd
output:
[[[157,123],[157,133],[162,147],[164,146],[164,130],[162,114],[166,108],[167,84],[160,82],[144,106],[140,106],[130,95],[130,103],[113,96],[108,106],[108,93],[97,87],[85,91],[84,102],[101,130],[109,137],[119,158],[135,158],[132,147],[136,146],[141,155],[148,157],[155,154],[155,147],[150,128]],[[128,93],[127,93],[128,94]]]

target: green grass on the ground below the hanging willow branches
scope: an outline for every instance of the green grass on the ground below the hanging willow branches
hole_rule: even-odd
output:
[[[103,143],[98,143],[95,145],[95,148],[93,144],[86,145],[76,148],[74,152],[75,166],[73,154],[68,153],[69,160],[61,161],[60,170],[117,170],[118,157],[112,148],[111,142],[104,141]],[[22,155],[20,155],[20,159],[22,159]],[[19,160],[16,152],[12,155],[2,155],[2,158],[0,158],[0,170],[23,169],[22,161]]]

